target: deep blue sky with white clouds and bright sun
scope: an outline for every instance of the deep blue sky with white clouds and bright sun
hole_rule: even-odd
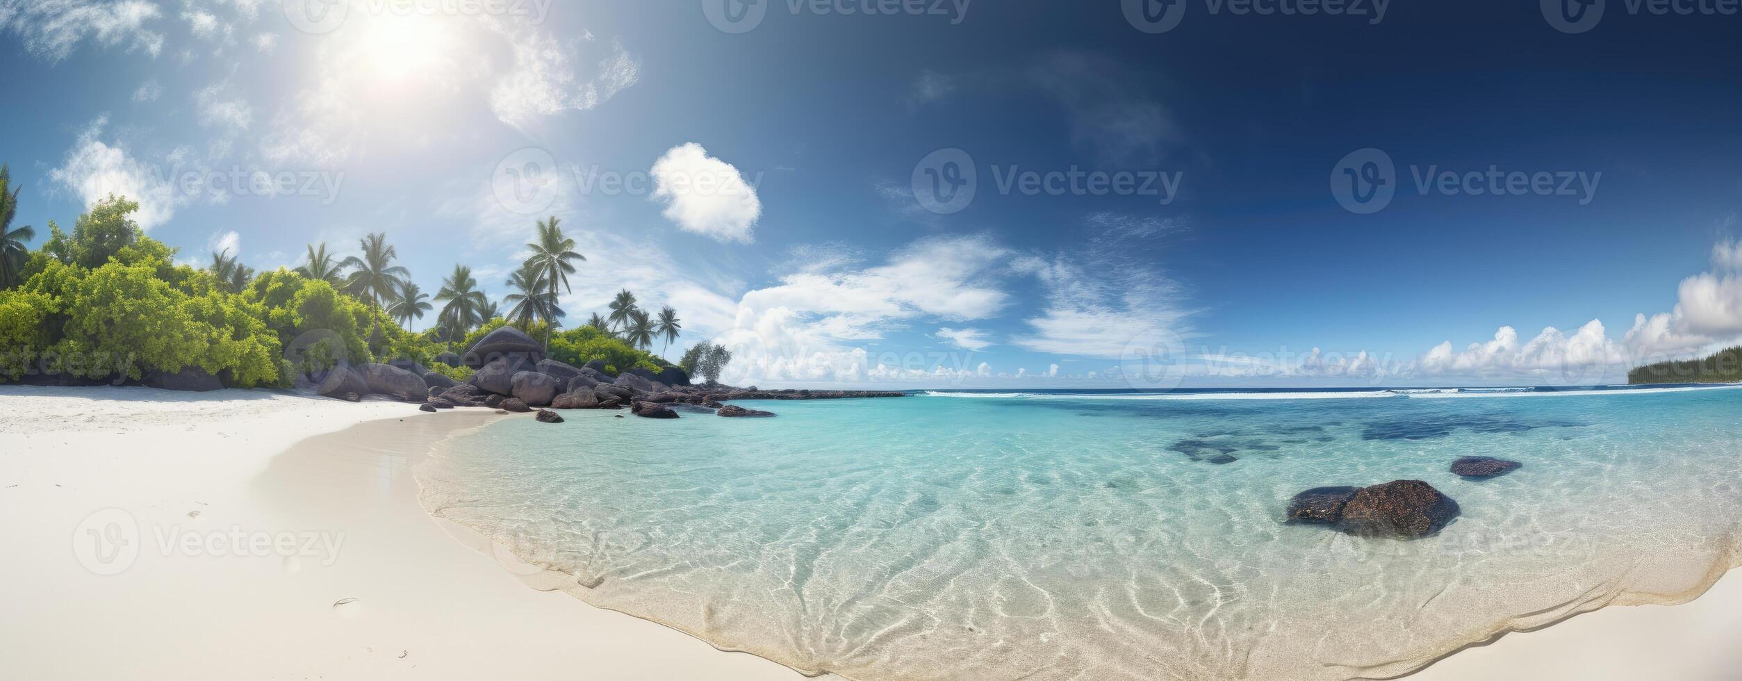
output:
[[[387,232],[493,298],[556,214],[571,322],[627,286],[761,385],[1601,383],[1742,334],[1739,16],[922,5],[0,0],[0,160],[42,233],[113,190],[190,261]]]

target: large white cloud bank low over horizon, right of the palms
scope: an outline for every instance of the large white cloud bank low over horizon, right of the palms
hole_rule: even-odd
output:
[[[800,272],[749,291],[716,343],[732,350],[733,381],[862,381],[967,378],[955,355],[873,357],[852,341],[880,340],[922,319],[974,320],[1009,303],[1000,287],[1010,251],[986,237],[932,237],[883,265]]]

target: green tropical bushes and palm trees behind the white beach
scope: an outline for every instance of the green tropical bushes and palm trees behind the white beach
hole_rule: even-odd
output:
[[[557,296],[585,258],[554,216],[537,223],[533,254],[509,279],[502,314],[465,265],[432,298],[385,233],[361,239],[343,260],[324,242],[308,244],[294,268],[256,272],[232,249],[195,266],[139,228],[136,202],[111,195],[71,232],[51,219],[49,239],[31,251],[37,232],[10,225],[17,197],[0,165],[0,380],[143,381],[199,367],[230,387],[291,387],[336,362],[416,362],[465,378],[470,369],[451,366],[453,354],[509,324],[544,340],[561,362],[658,373],[672,364],[650,352],[655,340],[669,347],[681,333],[676,310],[650,315],[629,291],[608,315],[561,329]],[[409,331],[432,312],[429,329]]]

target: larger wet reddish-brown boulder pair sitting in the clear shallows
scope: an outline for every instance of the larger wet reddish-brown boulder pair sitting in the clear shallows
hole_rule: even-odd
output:
[[[1313,488],[1289,502],[1289,523],[1329,524],[1357,536],[1420,538],[1458,516],[1458,502],[1421,481]]]

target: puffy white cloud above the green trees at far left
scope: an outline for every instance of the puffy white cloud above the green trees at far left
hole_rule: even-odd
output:
[[[167,223],[176,207],[186,204],[186,197],[176,193],[159,165],[139,160],[118,143],[103,141],[106,125],[106,115],[92,120],[66,152],[61,165],[49,171],[49,178],[84,200],[87,209],[110,195],[120,195],[139,202],[139,211],[132,218],[141,228],[150,230]]]

